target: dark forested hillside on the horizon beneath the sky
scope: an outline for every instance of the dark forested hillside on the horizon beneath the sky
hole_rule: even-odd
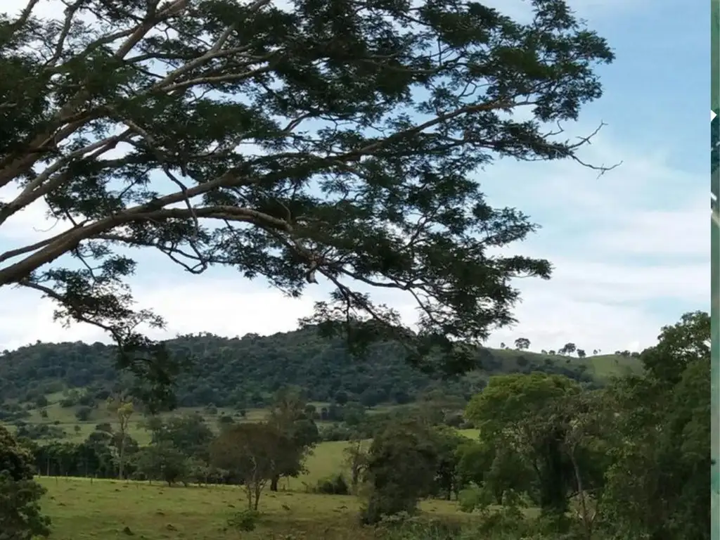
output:
[[[286,384],[302,387],[311,400],[330,401],[346,394],[372,406],[409,402],[418,393],[444,387],[472,395],[495,373],[544,371],[596,384],[611,374],[636,369],[628,356],[579,359],[510,349],[483,349],[479,369],[443,381],[405,364],[398,346],[381,343],[366,359],[350,354],[342,341],[328,341],[312,330],[261,337],[181,336],[168,348],[190,365],[179,377],[176,395],[185,407],[209,405],[262,407]],[[0,395],[32,401],[63,387],[112,390],[122,384],[114,369],[114,348],[102,343],[36,343],[0,356]]]

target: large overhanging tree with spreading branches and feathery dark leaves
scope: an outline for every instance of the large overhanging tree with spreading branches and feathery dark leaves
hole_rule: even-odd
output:
[[[452,0],[68,0],[55,19],[36,4],[0,15],[0,231],[40,201],[57,225],[0,253],[0,287],[104,328],[143,379],[164,372],[139,325],[163,321],[134,307],[127,248],[292,296],[322,279],[310,322],[415,361],[469,358],[451,343],[511,322],[509,279],[549,277],[496,254],[535,225],[490,207],[476,171],[586,165],[588,138],[546,126],[600,96],[613,54],[565,1],[532,0],[528,23]],[[372,289],[413,296],[420,331]]]

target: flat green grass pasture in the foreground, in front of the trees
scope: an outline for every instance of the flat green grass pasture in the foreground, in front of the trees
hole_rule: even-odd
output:
[[[223,531],[228,518],[245,508],[240,487],[165,487],[147,482],[80,478],[40,479],[48,494],[43,511],[53,520],[54,540],[187,539],[370,539],[358,525],[359,500],[352,496],[266,492],[256,531]],[[421,505],[428,515],[467,521],[454,503]],[[126,529],[127,528],[127,529]]]

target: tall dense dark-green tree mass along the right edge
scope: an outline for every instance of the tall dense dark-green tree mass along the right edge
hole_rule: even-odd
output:
[[[648,376],[611,387],[613,464],[603,526],[615,538],[710,538],[710,318],[683,315],[645,351]]]

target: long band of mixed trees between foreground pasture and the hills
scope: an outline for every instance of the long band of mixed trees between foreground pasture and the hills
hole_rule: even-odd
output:
[[[355,431],[345,470],[307,489],[361,495],[366,524],[412,515],[423,498],[440,497],[517,538],[706,540],[709,336],[706,313],[683,315],[642,353],[643,374],[599,389],[542,372],[491,377],[464,408],[477,439],[444,425],[448,415],[433,415],[443,412],[437,403],[375,420],[372,439],[364,418],[348,419]],[[115,405],[118,418],[130,411],[127,402]],[[122,428],[98,426],[78,445],[35,446],[5,435],[3,451],[50,474],[240,485],[253,516],[266,488],[304,470],[321,439],[313,413],[302,392],[285,388],[265,421],[230,418],[217,433],[199,415],[152,416],[143,448]],[[523,508],[539,509],[539,518]]]

